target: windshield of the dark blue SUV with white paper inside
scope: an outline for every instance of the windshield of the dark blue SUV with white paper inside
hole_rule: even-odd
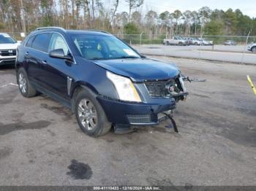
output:
[[[75,34],[71,38],[80,55],[89,60],[140,58],[138,53],[114,36]]]

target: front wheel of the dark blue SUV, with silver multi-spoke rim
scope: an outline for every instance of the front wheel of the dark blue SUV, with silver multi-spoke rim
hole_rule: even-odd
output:
[[[102,136],[111,128],[96,95],[86,87],[75,98],[75,117],[80,129],[89,136]]]

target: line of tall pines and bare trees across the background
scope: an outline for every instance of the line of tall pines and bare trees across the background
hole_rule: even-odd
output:
[[[127,12],[118,12],[120,3]],[[1,31],[32,31],[39,26],[94,28],[113,34],[256,36],[256,18],[240,9],[210,9],[162,13],[143,12],[143,0],[1,0]],[[110,7],[110,8],[107,8]]]

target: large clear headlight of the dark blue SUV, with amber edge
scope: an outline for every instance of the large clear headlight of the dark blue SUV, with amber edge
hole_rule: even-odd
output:
[[[107,71],[107,77],[116,87],[120,100],[141,102],[140,96],[129,78],[118,76],[110,71]]]

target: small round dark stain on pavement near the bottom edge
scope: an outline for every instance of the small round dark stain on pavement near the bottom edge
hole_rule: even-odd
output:
[[[79,163],[77,160],[71,160],[71,164],[67,167],[69,172],[67,175],[73,179],[91,179],[91,167],[85,163]]]

